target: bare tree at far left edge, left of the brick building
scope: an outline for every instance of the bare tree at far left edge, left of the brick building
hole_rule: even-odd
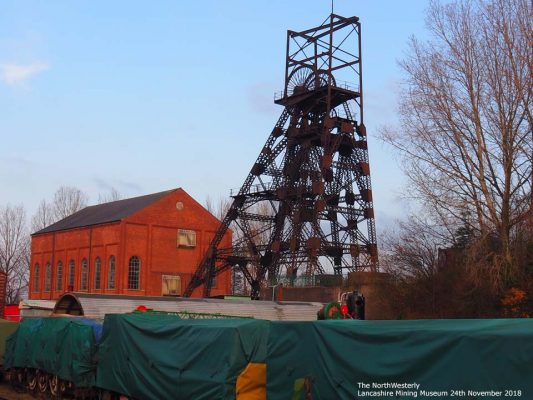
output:
[[[0,270],[7,275],[7,303],[19,301],[28,287],[29,253],[24,207],[0,207]]]

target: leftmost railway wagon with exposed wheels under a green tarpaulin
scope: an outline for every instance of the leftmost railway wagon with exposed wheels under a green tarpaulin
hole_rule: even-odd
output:
[[[6,340],[4,367],[9,380],[47,397],[94,397],[101,332],[101,324],[84,318],[23,320]]]

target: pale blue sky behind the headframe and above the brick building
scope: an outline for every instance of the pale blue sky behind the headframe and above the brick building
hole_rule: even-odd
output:
[[[422,0],[337,0],[363,29],[365,123],[377,227],[405,183],[376,140],[396,120]],[[61,185],[130,197],[183,187],[204,203],[246,177],[282,109],[287,29],[328,0],[0,1],[0,205],[32,214]]]

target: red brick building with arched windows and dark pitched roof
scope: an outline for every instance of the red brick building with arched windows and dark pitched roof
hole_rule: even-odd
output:
[[[181,188],[84,208],[32,235],[29,298],[181,295],[219,223]],[[230,286],[228,271],[211,294]]]

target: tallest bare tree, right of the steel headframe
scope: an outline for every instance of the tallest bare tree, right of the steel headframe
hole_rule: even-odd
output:
[[[401,127],[382,135],[400,151],[414,197],[448,224],[497,235],[500,283],[531,205],[532,19],[528,0],[432,2],[432,39],[412,38],[401,62]]]

